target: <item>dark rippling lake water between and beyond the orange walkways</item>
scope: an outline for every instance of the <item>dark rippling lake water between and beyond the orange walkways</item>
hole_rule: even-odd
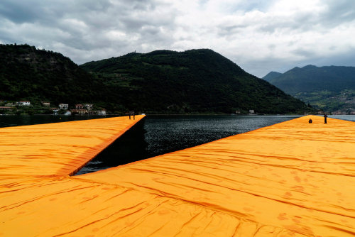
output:
[[[136,160],[246,133],[300,116],[146,116],[77,173],[104,170]],[[102,116],[0,116],[0,127],[75,121]],[[355,116],[329,116],[355,121]]]

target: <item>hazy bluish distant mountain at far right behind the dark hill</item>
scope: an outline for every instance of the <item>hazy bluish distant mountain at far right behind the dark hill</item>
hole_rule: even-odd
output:
[[[355,114],[355,67],[295,67],[263,77],[284,92],[335,114]]]

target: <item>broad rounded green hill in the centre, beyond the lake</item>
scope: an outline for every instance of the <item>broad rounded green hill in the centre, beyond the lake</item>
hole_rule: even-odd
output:
[[[139,111],[181,114],[254,109],[283,114],[307,109],[212,50],[130,53],[80,67],[115,88],[125,106]]]

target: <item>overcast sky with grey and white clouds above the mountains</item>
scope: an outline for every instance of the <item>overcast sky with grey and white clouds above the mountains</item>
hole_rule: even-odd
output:
[[[257,77],[308,64],[355,66],[354,0],[1,0],[0,43],[77,64],[210,48]]]

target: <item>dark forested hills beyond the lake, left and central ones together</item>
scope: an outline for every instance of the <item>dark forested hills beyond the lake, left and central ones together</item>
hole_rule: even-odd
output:
[[[212,50],[129,53],[80,66],[60,53],[30,45],[0,45],[0,55],[0,100],[94,103],[116,113],[310,110]]]

